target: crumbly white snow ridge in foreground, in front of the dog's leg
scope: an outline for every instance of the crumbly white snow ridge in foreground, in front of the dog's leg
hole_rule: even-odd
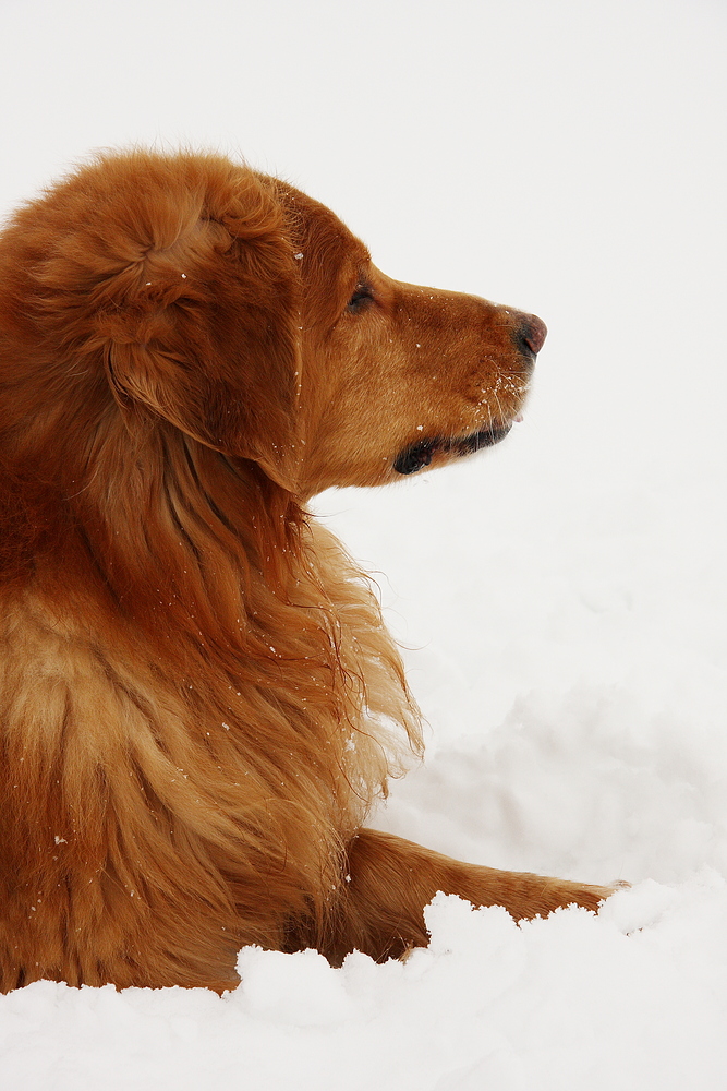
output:
[[[247,948],[222,998],[38,982],[3,998],[3,1077],[109,1091],[720,1088],[726,902],[714,874],[678,890],[646,880],[597,918],[517,926],[438,895],[431,947],[404,963],[354,954],[334,970],[315,951]]]

